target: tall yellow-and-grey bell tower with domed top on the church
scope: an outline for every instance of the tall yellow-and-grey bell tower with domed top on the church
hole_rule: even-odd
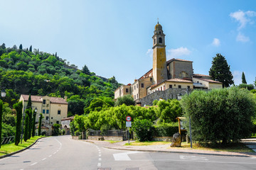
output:
[[[157,22],[153,35],[153,79],[159,84],[167,79],[166,45],[162,26]]]

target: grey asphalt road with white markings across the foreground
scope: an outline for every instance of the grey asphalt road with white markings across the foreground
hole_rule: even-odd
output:
[[[46,137],[24,152],[0,159],[0,169],[256,169],[251,157],[133,152],[106,149],[70,136]]]

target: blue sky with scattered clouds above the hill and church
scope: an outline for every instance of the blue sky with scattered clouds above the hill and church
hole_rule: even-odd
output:
[[[152,35],[159,23],[166,34],[167,60],[193,61],[208,74],[223,55],[235,84],[245,72],[256,77],[256,1],[86,1],[1,0],[0,44],[22,44],[55,53],[80,69],[133,83],[152,68]]]

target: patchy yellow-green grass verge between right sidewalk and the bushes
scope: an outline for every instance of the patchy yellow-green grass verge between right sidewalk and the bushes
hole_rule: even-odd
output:
[[[171,142],[159,142],[159,141],[147,141],[147,142],[132,142],[132,146],[147,146],[147,145],[171,145]],[[126,143],[125,145],[128,145]],[[190,143],[182,142],[181,147],[167,147],[166,149],[191,149]],[[218,151],[218,152],[254,152],[252,149],[246,147],[243,143],[230,143],[228,145],[200,145],[198,143],[193,143],[193,149],[208,150],[208,151]]]

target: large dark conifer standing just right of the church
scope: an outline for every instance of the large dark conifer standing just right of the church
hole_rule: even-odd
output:
[[[210,68],[209,75],[215,81],[223,83],[223,88],[234,84],[233,75],[230,72],[230,65],[227,60],[220,54],[213,57],[212,67]]]

